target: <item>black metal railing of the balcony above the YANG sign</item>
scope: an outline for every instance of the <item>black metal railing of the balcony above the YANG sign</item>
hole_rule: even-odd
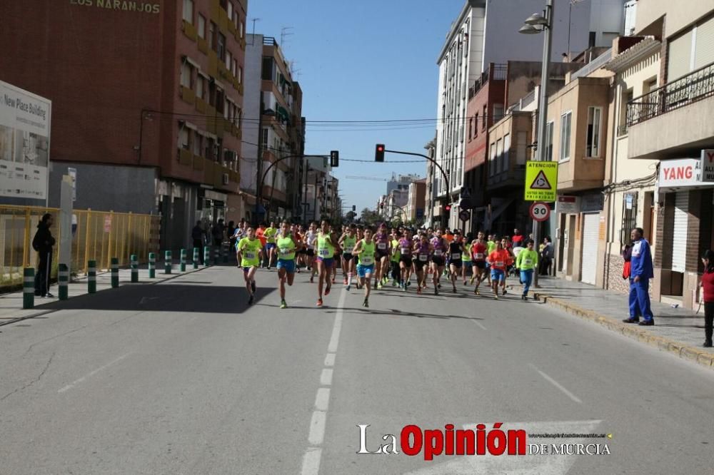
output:
[[[629,101],[627,125],[634,126],[710,96],[714,96],[714,63]]]

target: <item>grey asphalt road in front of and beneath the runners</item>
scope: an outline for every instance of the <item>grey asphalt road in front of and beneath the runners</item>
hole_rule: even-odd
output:
[[[516,295],[388,287],[366,310],[338,282],[318,309],[303,272],[280,310],[276,280],[247,307],[211,267],[0,327],[0,474],[713,471],[708,369]],[[496,422],[610,454],[356,454],[359,424],[376,451],[408,424]]]

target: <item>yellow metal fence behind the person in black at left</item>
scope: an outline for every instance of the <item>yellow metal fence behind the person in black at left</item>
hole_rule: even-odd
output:
[[[52,257],[56,277],[57,266],[64,261],[59,255],[59,209],[0,205],[0,288],[21,284],[24,267],[36,267],[32,239],[45,213],[54,216],[50,230],[56,240]],[[86,274],[89,260],[96,260],[99,269],[109,269],[111,257],[118,257],[120,266],[129,265],[132,254],[147,262],[149,252],[159,251],[160,223],[158,215],[72,210],[71,272]]]

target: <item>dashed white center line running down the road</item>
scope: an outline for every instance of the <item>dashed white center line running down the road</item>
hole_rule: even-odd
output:
[[[337,347],[340,343],[340,332],[342,330],[342,316],[344,313],[346,290],[340,293],[335,312],[335,322],[332,327],[330,342],[327,347],[325,364],[320,374],[320,385],[330,386],[335,366]],[[319,387],[315,397],[315,410],[310,419],[310,432],[308,433],[308,443],[310,444],[303,455],[302,475],[317,475],[320,471],[320,461],[322,459],[322,445],[325,439],[325,427],[327,424],[327,408],[330,404],[330,388]]]

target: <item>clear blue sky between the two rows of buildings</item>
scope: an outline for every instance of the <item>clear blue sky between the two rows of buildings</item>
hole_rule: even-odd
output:
[[[343,205],[373,208],[386,181],[347,180],[347,175],[389,178],[426,175],[426,160],[386,155],[374,163],[374,145],[426,153],[436,123],[419,126],[318,125],[310,121],[385,121],[436,118],[438,56],[463,0],[248,0],[246,29],[273,36],[295,61],[308,121],[306,153],[340,150]],[[381,129],[381,130],[374,130]],[[369,163],[347,160],[369,160]]]

